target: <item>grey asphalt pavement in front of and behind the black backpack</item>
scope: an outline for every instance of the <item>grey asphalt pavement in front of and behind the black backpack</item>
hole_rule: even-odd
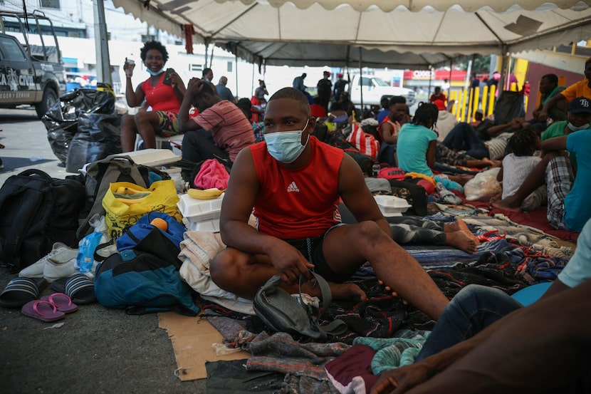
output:
[[[0,109],[0,128],[6,145],[0,184],[28,168],[70,175],[58,166],[34,110]],[[0,268],[0,291],[15,276]],[[52,292],[48,286],[41,295]],[[172,344],[156,314],[127,316],[95,303],[60,322],[51,328],[19,309],[0,308],[0,393],[206,393],[205,380],[181,382],[174,375]]]

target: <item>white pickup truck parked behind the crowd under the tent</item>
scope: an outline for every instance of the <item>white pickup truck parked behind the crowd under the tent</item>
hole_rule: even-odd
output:
[[[359,107],[361,107],[362,93],[364,106],[380,106],[382,97],[390,98],[393,95],[402,95],[407,99],[409,106],[414,105],[417,101],[414,98],[414,90],[392,86],[377,76],[356,75],[347,86],[352,103]]]

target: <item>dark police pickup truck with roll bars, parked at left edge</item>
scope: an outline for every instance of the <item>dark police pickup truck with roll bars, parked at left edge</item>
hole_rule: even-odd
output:
[[[24,19],[31,26],[40,26],[35,35],[24,27]],[[34,105],[39,118],[66,91],[58,39],[51,21],[41,14],[18,14],[0,11],[0,108]],[[6,26],[20,26],[21,33],[6,33]],[[51,35],[50,35],[51,34]],[[49,37],[53,36],[54,43]]]

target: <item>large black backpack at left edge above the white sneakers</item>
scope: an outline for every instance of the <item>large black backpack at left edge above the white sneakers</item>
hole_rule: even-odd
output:
[[[41,170],[9,177],[0,188],[0,264],[19,271],[48,254],[55,242],[78,247],[84,187]]]

